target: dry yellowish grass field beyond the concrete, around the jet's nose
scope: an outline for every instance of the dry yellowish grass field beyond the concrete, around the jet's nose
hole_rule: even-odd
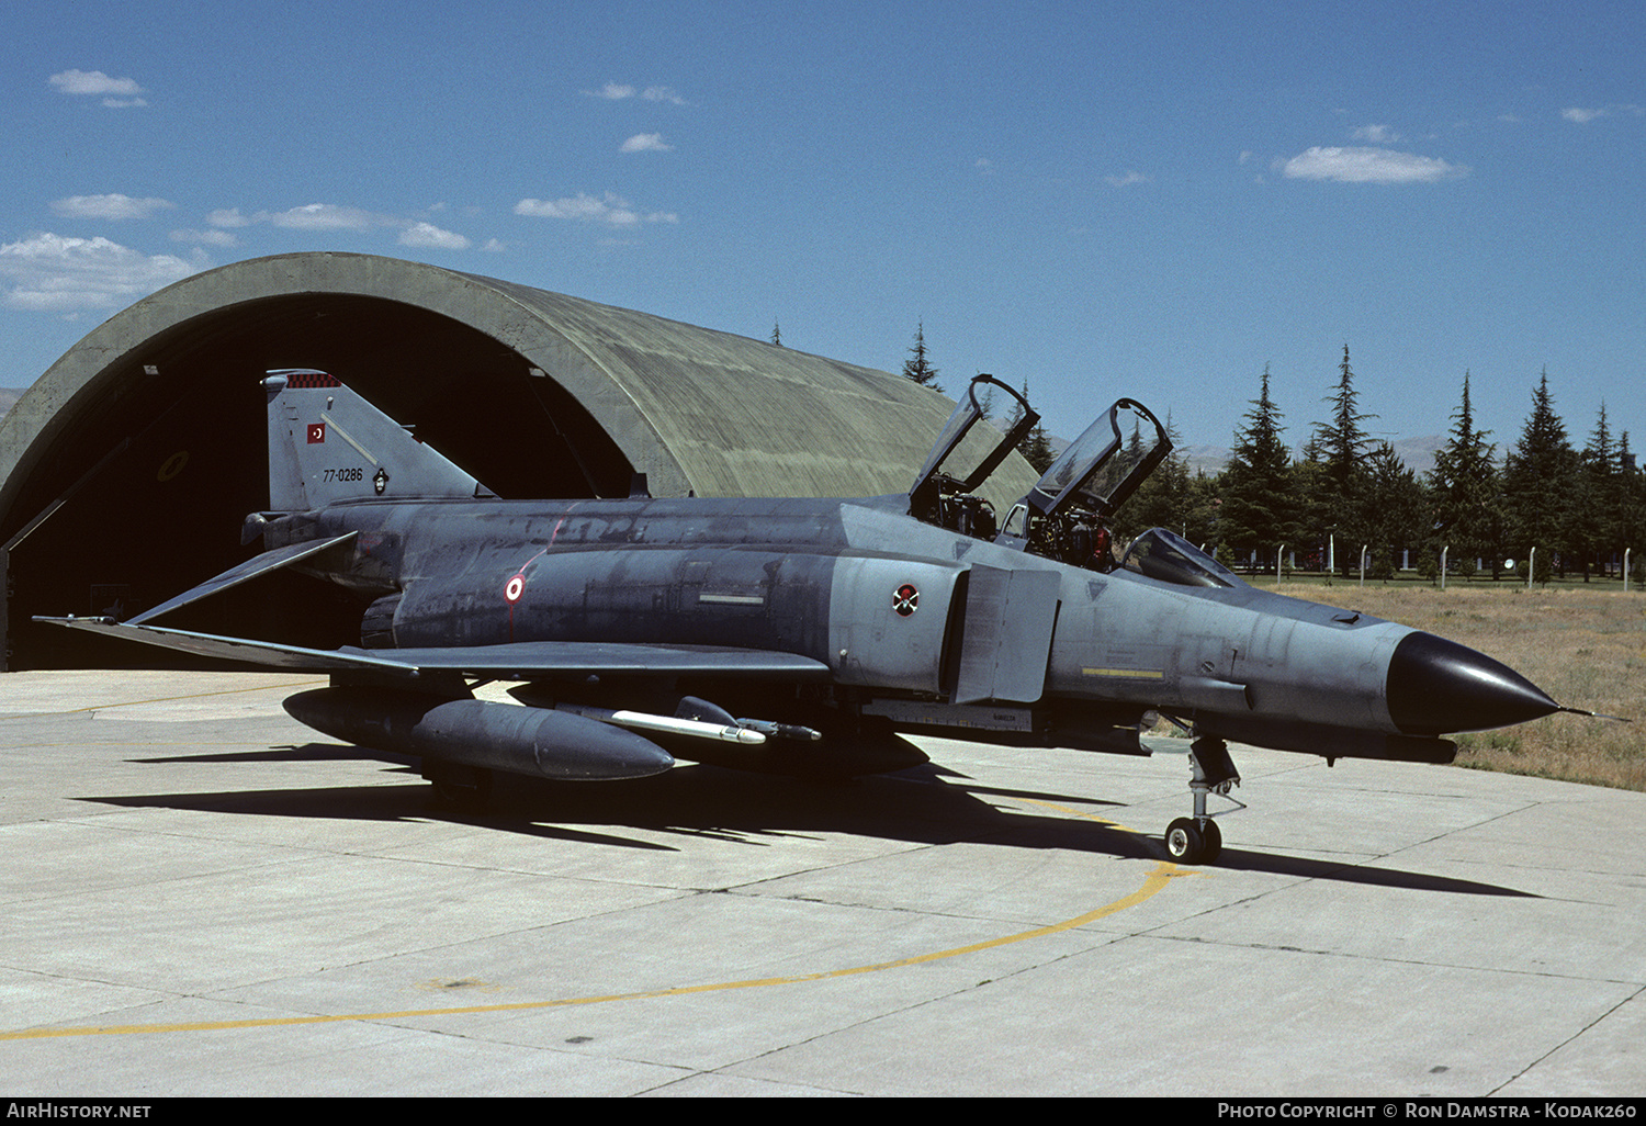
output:
[[[1496,657],[1562,705],[1634,719],[1557,714],[1458,736],[1458,765],[1646,790],[1646,594],[1455,579],[1445,591],[1409,583],[1281,589],[1439,634]]]

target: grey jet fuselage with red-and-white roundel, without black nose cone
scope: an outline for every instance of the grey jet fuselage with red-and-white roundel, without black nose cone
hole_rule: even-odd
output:
[[[384,647],[780,650],[828,665],[904,729],[1024,739],[1058,706],[1065,728],[1075,713],[1134,726],[1155,708],[1267,746],[1450,757],[1439,729],[1402,723],[1401,700],[1391,711],[1406,626],[1249,586],[1070,566],[902,504],[362,500],[286,517],[270,545],[354,532],[344,566],[306,570],[375,594],[365,632]]]

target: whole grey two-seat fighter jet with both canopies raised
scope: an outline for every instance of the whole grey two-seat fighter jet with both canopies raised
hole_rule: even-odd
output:
[[[1039,415],[991,375],[907,494],[846,500],[655,499],[639,474],[629,497],[505,500],[326,372],[262,385],[270,509],[244,542],[267,550],[125,622],[36,621],[329,673],[286,711],[418,756],[444,800],[482,800],[497,775],[637,779],[677,757],[897,770],[927,761],[909,734],[1149,754],[1139,729],[1160,714],[1193,734],[1192,812],[1165,851],[1210,863],[1207,800],[1239,782],[1228,741],[1450,762],[1444,734],[1565,710],[1463,645],[1259,591],[1167,528],[1121,550],[1113,517],[1170,451],[1129,398],[1001,520],[979,489]],[[989,390],[1014,403],[1007,433],[984,425]],[[369,601],[360,645],[153,624],[278,568]]]

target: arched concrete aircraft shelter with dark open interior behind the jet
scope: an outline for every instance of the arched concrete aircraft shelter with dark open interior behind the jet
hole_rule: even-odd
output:
[[[504,497],[627,496],[635,472],[660,497],[902,492],[951,408],[887,372],[495,278],[239,262],[105,321],[0,425],[7,668],[151,662],[30,616],[128,616],[258,550],[240,522],[268,504],[258,380],[278,367],[337,375]],[[356,642],[346,594],[252,586],[188,624]]]

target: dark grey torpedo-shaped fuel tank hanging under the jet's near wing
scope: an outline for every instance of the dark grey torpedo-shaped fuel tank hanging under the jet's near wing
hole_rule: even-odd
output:
[[[357,746],[561,782],[644,779],[675,765],[632,731],[546,708],[344,686],[300,693],[285,710]]]

